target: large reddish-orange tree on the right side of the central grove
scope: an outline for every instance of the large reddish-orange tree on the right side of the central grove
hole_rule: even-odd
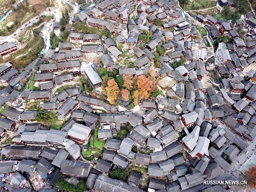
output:
[[[149,97],[149,91],[151,90],[152,81],[146,78],[145,75],[140,75],[137,77],[137,88],[142,99],[147,99]]]

